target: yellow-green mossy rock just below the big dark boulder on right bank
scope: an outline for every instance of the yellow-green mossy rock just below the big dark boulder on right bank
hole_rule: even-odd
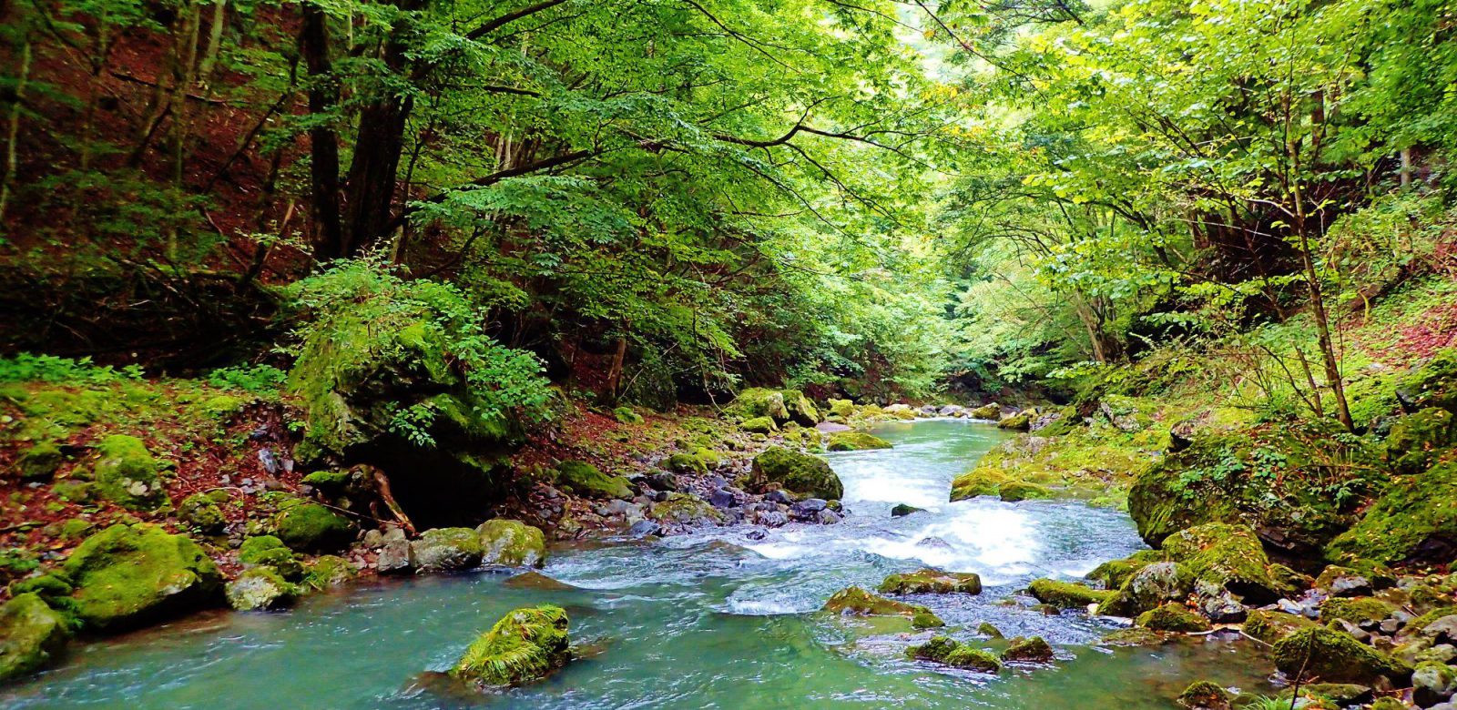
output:
[[[1164,538],[1164,554],[1198,579],[1222,586],[1250,604],[1271,604],[1295,592],[1272,569],[1259,537],[1247,525],[1211,522]]]

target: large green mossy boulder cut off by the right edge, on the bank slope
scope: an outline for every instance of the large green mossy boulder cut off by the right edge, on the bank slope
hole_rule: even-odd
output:
[[[1327,557],[1383,565],[1457,560],[1457,463],[1393,479],[1365,516],[1330,541]]]

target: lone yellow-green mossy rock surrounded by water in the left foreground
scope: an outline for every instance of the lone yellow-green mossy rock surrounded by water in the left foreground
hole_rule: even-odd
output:
[[[450,675],[492,687],[539,681],[571,659],[567,631],[567,611],[559,607],[511,611],[465,650]]]

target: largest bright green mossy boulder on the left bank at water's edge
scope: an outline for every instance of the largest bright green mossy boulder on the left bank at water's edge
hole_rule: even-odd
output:
[[[112,525],[86,538],[61,572],[89,629],[118,630],[201,608],[219,599],[217,565],[184,537],[157,525]]]

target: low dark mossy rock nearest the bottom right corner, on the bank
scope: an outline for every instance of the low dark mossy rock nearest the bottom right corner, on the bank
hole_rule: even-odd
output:
[[[1374,684],[1390,678],[1396,684],[1412,675],[1406,663],[1358,642],[1345,631],[1310,627],[1275,642],[1275,668],[1287,675],[1319,677],[1326,682]]]

